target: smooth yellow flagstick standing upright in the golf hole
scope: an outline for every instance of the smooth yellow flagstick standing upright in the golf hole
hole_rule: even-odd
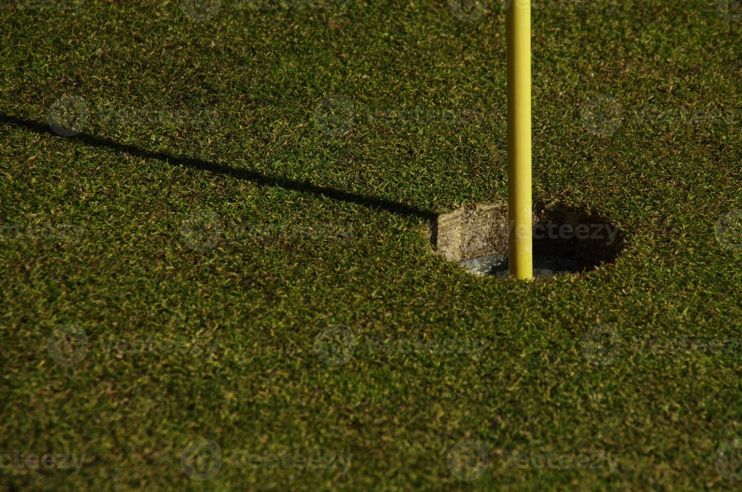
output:
[[[510,276],[533,278],[531,239],[531,0],[510,0],[508,43],[508,261]]]

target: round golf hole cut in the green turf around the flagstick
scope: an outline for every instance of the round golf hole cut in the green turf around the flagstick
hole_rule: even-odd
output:
[[[569,206],[535,206],[532,234],[534,277],[614,263],[625,244],[623,232],[605,217]],[[441,214],[431,223],[430,242],[470,273],[507,278],[508,206],[474,203]]]

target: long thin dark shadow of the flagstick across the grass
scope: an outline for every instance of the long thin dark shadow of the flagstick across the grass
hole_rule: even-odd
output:
[[[59,135],[55,134],[48,125],[35,121],[0,114],[0,123],[9,123],[10,125],[27,128],[28,130],[34,131],[37,134],[59,137]],[[164,152],[145,151],[134,145],[126,145],[119,142],[114,142],[114,140],[103,137],[93,137],[92,135],[81,133],[77,134],[74,137],[62,138],[79,140],[80,142],[84,142],[87,145],[110,148],[111,150],[117,152],[125,152],[126,154],[130,154],[136,157],[162,160],[168,164],[173,163],[174,165],[183,165],[189,168],[200,169],[202,171],[210,171],[216,174],[223,174],[225,176],[235,177],[240,180],[248,180],[252,183],[256,183],[259,186],[278,186],[280,188],[285,188],[288,190],[300,191],[301,193],[310,193],[318,196],[324,196],[332,200],[338,200],[341,202],[355,203],[357,205],[366,206],[370,209],[389,211],[393,214],[401,215],[403,217],[416,217],[426,220],[433,220],[436,218],[437,215],[435,212],[430,210],[420,209],[416,206],[406,205],[404,203],[393,202],[392,200],[386,200],[380,197],[367,197],[362,194],[329,188],[328,186],[314,185],[312,183],[309,183],[308,181],[291,180],[286,177],[266,176],[255,171],[232,168],[228,165],[211,163],[207,160],[198,159],[196,157],[178,157],[170,154],[165,154]]]

